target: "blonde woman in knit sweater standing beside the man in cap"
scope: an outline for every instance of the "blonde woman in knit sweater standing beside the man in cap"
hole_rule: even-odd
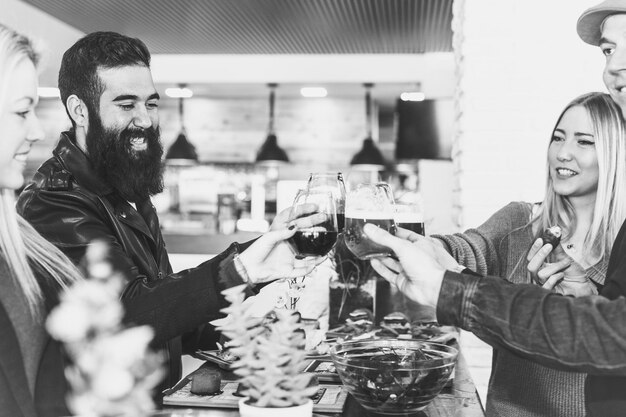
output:
[[[552,132],[543,202],[510,203],[476,229],[433,237],[480,274],[535,282],[566,295],[597,294],[626,218],[625,142],[621,110],[611,97],[580,96]],[[563,232],[556,248],[539,239],[551,226]],[[584,416],[584,374],[494,349],[487,415]]]

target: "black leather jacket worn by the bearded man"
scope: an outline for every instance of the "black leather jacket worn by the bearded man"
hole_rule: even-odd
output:
[[[183,347],[202,347],[196,342],[212,334],[206,323],[225,307],[221,290],[243,283],[232,261],[242,248],[233,243],[196,268],[172,273],[149,200],[136,202],[135,210],[100,180],[70,132],[61,134],[53,155],[21,193],[18,212],[76,264],[93,240],[108,243],[113,265],[127,277],[122,294],[126,320],[152,326],[154,345],[167,345],[164,385],[174,385],[181,376]]]

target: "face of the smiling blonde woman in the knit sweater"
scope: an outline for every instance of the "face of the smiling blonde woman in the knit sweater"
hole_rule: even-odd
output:
[[[582,106],[568,109],[552,135],[548,165],[554,191],[564,197],[595,200],[598,156],[591,118]]]

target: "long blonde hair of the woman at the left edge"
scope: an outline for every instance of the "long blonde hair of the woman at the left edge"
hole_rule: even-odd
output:
[[[25,59],[35,65],[39,61],[28,38],[0,25],[0,112],[7,105],[6,92],[11,77]],[[17,214],[15,190],[8,188],[0,190],[0,251],[35,316],[39,315],[43,302],[36,273],[47,275],[49,278],[45,279],[52,279],[62,289],[82,279],[72,261]]]

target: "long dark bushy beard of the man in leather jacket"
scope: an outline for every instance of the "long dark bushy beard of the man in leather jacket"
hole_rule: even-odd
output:
[[[134,151],[133,138],[145,138],[147,149]],[[145,200],[163,191],[163,145],[158,128],[119,131],[102,126],[97,115],[90,117],[87,153],[98,176],[127,201]]]

